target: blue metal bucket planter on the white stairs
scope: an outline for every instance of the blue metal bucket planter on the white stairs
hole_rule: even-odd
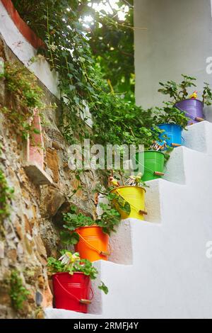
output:
[[[158,125],[160,130],[164,130],[160,134],[161,142],[166,141],[169,147],[179,147],[182,145],[182,127],[175,124],[162,124]],[[163,137],[166,136],[167,138]],[[160,142],[160,143],[161,143]]]

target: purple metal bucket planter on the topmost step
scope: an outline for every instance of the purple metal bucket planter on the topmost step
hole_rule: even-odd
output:
[[[204,105],[199,99],[184,99],[183,101],[176,103],[175,106],[191,119],[189,120],[188,125],[199,123],[201,119],[204,119]]]

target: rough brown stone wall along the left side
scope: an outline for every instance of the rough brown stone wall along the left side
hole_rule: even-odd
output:
[[[0,39],[0,57],[9,62],[17,62],[16,56]],[[61,213],[76,205],[86,215],[95,213],[94,189],[100,175],[87,171],[81,174],[82,189],[71,196],[78,188],[78,180],[67,166],[68,145],[59,130],[59,108],[50,107],[57,103],[56,98],[39,81],[47,106],[43,140],[45,145],[45,172],[52,177],[52,185],[39,186],[33,183],[25,172],[25,143],[11,130],[5,116],[0,113],[0,142],[3,146],[0,157],[1,169],[15,193],[11,201],[10,218],[0,221],[0,318],[42,318],[42,307],[52,306],[52,293],[47,278],[47,256],[57,256],[61,244],[59,232],[62,226]],[[0,81],[0,104],[7,104],[4,80]],[[70,198],[71,197],[71,198]],[[16,269],[23,279],[23,286],[30,291],[23,310],[13,310],[11,306],[10,276]]]

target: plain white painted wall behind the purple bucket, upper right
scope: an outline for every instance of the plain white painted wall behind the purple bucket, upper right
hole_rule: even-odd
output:
[[[212,74],[206,73],[206,59],[212,57],[211,0],[134,0],[134,5],[137,103],[162,103],[158,82],[179,80],[181,74],[197,77],[199,91],[204,81],[212,86]]]

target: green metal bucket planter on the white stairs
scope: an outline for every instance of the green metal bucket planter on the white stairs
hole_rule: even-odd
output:
[[[144,157],[140,154],[144,154]],[[139,159],[144,162],[144,166],[141,164],[141,162],[139,163]],[[152,181],[153,179],[159,179],[164,176],[165,156],[163,152],[156,152],[155,150],[137,152],[133,162],[135,168],[136,163],[139,163],[139,170],[137,171],[135,169],[134,171],[136,174],[139,172],[143,174],[143,181]]]

